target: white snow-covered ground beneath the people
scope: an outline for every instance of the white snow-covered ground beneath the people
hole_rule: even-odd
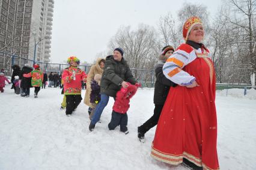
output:
[[[235,90],[243,94],[243,90]],[[34,89],[31,88],[31,94]],[[0,93],[0,169],[176,169],[150,157],[154,129],[144,144],[137,127],[153,114],[153,89],[139,90],[130,103],[129,134],[108,130],[112,104],[102,123],[88,130],[88,107],[81,103],[72,117],[60,111],[59,88],[41,90],[38,99],[22,98],[5,87]],[[256,100],[218,92],[218,154],[221,169],[256,169]],[[84,97],[85,91],[82,93]],[[250,90],[256,96],[255,90]]]

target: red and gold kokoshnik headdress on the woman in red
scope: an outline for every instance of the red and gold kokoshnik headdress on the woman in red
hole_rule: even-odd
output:
[[[187,37],[193,26],[197,24],[203,25],[203,22],[197,16],[192,16],[186,20],[186,22],[183,25],[183,38],[185,39],[185,41],[187,41]]]

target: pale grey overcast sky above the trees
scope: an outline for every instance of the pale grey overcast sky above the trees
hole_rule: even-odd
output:
[[[221,0],[55,0],[50,60],[76,55],[81,62],[93,62],[121,25],[156,26],[160,16],[171,12],[176,17],[184,2],[206,5],[211,17],[221,6]]]

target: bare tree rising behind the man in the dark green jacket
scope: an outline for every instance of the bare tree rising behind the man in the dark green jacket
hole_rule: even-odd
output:
[[[152,26],[141,24],[133,31],[130,26],[121,27],[117,34],[111,38],[109,49],[122,47],[124,57],[131,68],[135,68],[135,77],[138,77],[138,68],[153,67],[155,56],[156,30]],[[151,62],[151,64],[149,64]]]

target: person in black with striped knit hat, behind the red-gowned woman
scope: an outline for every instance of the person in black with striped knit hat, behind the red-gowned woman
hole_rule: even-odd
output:
[[[144,124],[138,127],[138,138],[141,142],[144,142],[145,133],[158,123],[170,87],[176,86],[174,82],[171,82],[171,80],[165,77],[162,70],[166,59],[168,59],[173,52],[174,48],[172,46],[163,47],[159,62],[154,66],[156,73],[156,83],[154,85],[154,114]]]

